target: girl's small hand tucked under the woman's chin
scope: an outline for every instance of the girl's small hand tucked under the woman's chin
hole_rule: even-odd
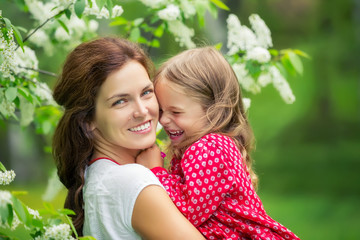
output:
[[[156,144],[140,152],[135,161],[149,169],[164,166],[160,148]]]

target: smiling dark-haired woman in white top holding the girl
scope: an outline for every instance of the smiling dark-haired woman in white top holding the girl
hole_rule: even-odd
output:
[[[64,107],[53,139],[65,207],[97,239],[203,239],[150,170],[135,163],[156,138],[151,61],[134,43],[101,38],[67,57],[54,89]]]

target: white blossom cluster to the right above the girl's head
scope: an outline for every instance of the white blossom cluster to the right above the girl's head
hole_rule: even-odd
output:
[[[257,14],[249,17],[252,29],[241,25],[238,17],[230,14],[227,19],[229,58],[239,56],[233,69],[242,88],[257,94],[272,83],[286,103],[293,103],[295,96],[280,73],[271,62],[268,48],[273,46],[271,32]]]

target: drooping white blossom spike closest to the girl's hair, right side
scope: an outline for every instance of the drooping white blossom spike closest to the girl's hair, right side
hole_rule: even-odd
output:
[[[260,86],[256,84],[255,80],[251,77],[245,64],[235,63],[232,67],[242,88],[254,94],[260,92]]]

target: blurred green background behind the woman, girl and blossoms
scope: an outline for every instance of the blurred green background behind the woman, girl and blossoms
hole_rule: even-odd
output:
[[[129,5],[124,14],[138,11],[124,2]],[[301,239],[360,239],[360,1],[224,2],[247,26],[249,15],[259,14],[272,32],[274,48],[298,48],[311,56],[303,59],[303,76],[288,78],[294,104],[285,104],[271,86],[258,95],[245,93],[252,99],[253,158],[265,209]],[[14,25],[30,27],[29,16],[10,5],[0,0],[3,15]],[[209,16],[195,41],[222,41],[225,47],[227,15],[221,11],[216,21]],[[100,35],[119,32],[106,21],[99,30]],[[161,49],[151,49],[150,55],[159,64],[180,50],[165,36]],[[40,51],[40,68],[59,72],[65,55],[59,49],[49,59]],[[43,81],[52,86],[54,79],[43,76]],[[6,188],[27,190],[23,201],[40,208],[54,167],[44,153],[49,139],[9,121],[1,123],[0,142],[0,161],[17,173]],[[64,196],[63,190],[54,205],[62,207]]]

